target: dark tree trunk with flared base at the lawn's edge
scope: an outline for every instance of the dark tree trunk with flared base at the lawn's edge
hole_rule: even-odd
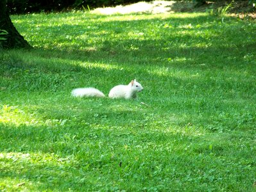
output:
[[[4,35],[7,31],[8,34]],[[30,44],[19,34],[6,9],[6,0],[0,0],[0,47],[4,49],[30,48]]]

